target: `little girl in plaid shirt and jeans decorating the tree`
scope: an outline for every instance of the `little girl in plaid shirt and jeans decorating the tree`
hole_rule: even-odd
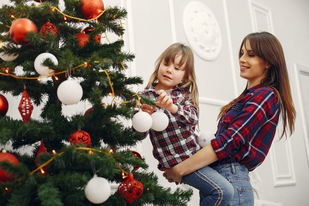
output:
[[[157,59],[143,95],[156,101],[155,106],[142,105],[150,115],[164,112],[169,124],[163,131],[150,129],[154,158],[164,170],[186,160],[199,149],[194,133],[198,121],[198,93],[195,82],[194,59],[191,48],[181,43],[169,46]],[[200,206],[226,206],[233,196],[232,185],[209,166],[184,176],[183,183],[200,191]]]

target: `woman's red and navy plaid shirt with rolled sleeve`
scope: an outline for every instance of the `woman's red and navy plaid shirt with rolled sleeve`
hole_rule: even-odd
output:
[[[219,161],[212,165],[238,162],[250,171],[261,165],[270,150],[279,120],[276,93],[256,85],[220,119],[216,138],[211,140]]]

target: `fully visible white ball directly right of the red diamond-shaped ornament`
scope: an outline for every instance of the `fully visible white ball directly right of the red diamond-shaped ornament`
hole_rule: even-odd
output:
[[[82,88],[79,83],[69,78],[58,86],[57,96],[64,104],[76,104],[82,97]]]

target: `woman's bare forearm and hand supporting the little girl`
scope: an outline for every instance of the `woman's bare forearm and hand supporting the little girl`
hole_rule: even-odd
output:
[[[165,168],[163,176],[169,182],[181,182],[182,177],[218,160],[211,144],[206,145],[187,160],[171,168]]]

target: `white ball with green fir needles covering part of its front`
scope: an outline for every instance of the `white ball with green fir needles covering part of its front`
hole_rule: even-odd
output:
[[[41,53],[37,58],[35,59],[35,69],[39,73],[39,75],[42,76],[49,76],[54,74],[54,70],[49,69],[46,66],[43,66],[42,63],[44,62],[45,59],[50,59],[55,65],[58,65],[58,60],[57,58],[51,54],[51,53]]]

